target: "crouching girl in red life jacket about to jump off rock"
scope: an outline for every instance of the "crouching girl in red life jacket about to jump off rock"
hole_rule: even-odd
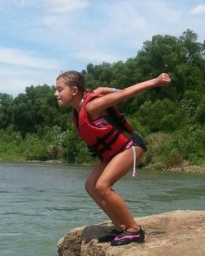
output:
[[[113,246],[144,242],[144,231],[112,186],[125,176],[133,164],[135,167],[136,157],[138,160],[142,157],[146,145],[141,135],[131,129],[114,106],[146,89],[170,83],[169,75],[162,73],[157,78],[122,90],[100,87],[87,93],[84,76],[79,72],[67,71],[57,77],[55,96],[58,105],[73,107],[75,129],[91,152],[100,158],[97,158],[85,182],[85,189],[107,213],[116,229],[99,237],[98,242],[110,241]]]

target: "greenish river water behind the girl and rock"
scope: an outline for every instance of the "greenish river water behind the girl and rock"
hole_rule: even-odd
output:
[[[0,255],[57,256],[71,228],[107,220],[84,190],[90,167],[0,163]],[[131,171],[117,183],[134,216],[176,209],[205,210],[205,175]]]

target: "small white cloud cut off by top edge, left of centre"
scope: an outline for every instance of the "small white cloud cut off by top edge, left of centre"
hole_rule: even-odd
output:
[[[87,6],[85,0],[45,0],[48,11],[52,13],[63,13],[75,11]]]

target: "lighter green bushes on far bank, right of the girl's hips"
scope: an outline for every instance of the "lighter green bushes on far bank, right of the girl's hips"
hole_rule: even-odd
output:
[[[177,167],[184,161],[201,165],[205,162],[204,127],[185,126],[171,135],[157,133],[148,136],[145,163],[160,163],[162,167]]]

